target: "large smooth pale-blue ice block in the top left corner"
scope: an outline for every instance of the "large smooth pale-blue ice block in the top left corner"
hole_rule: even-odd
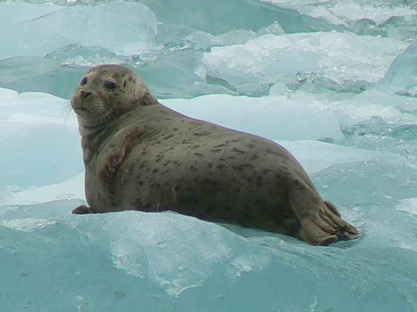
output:
[[[8,22],[0,25],[0,59],[45,56],[71,44],[99,46],[121,55],[141,54],[153,44],[157,32],[155,14],[136,2],[114,1],[88,9],[1,2],[0,12],[8,16]]]

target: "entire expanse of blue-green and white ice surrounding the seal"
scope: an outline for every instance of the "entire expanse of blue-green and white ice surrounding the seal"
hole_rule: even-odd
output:
[[[414,1],[46,2],[0,1],[1,311],[417,311]],[[103,63],[286,146],[361,238],[71,215],[85,197],[68,99]]]

